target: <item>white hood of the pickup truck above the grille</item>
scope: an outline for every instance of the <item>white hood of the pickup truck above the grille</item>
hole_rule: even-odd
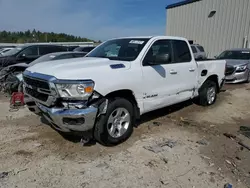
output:
[[[26,70],[31,73],[54,76],[57,79],[80,80],[93,79],[101,74],[108,76],[109,72],[113,70],[122,71],[129,68],[130,62],[126,61],[83,57],[38,63]]]

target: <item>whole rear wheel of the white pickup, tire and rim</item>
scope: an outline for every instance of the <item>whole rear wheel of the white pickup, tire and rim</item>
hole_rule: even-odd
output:
[[[215,103],[217,99],[217,85],[214,81],[207,80],[200,88],[199,104],[209,106]]]

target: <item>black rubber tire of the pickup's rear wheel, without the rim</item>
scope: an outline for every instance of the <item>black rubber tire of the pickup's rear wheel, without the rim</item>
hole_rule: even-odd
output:
[[[214,97],[214,100],[212,101],[212,103],[209,102],[208,96],[207,96],[208,89],[211,87],[214,88],[214,90],[215,90],[215,97]],[[198,98],[199,104],[202,106],[210,106],[210,105],[214,104],[216,99],[217,99],[217,93],[218,93],[218,89],[217,89],[216,83],[214,81],[207,80],[200,88],[199,98]]]

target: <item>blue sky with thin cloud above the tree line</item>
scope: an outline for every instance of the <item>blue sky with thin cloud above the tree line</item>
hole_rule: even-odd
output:
[[[0,0],[0,30],[59,32],[94,40],[165,35],[180,0]]]

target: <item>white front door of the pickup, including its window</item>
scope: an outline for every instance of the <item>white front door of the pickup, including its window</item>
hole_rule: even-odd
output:
[[[157,57],[168,56],[168,60]],[[176,94],[180,82],[175,64],[173,64],[171,40],[157,40],[148,50],[142,64],[145,83],[143,104],[144,111],[149,112],[176,103]]]

